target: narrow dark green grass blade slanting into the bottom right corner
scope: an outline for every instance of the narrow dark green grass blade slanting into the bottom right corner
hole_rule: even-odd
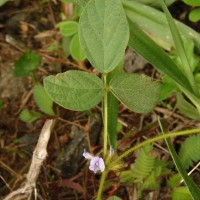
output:
[[[174,147],[172,146],[172,144],[169,142],[169,140],[165,140],[168,146],[168,149],[170,151],[170,154],[173,158],[174,164],[176,165],[176,168],[178,170],[178,172],[180,173],[180,175],[182,176],[185,184],[187,185],[190,194],[192,195],[192,198],[194,200],[199,200],[200,197],[200,189],[198,188],[198,186],[194,183],[194,181],[187,175],[187,172],[185,171],[184,167],[181,164],[181,161],[174,149]]]

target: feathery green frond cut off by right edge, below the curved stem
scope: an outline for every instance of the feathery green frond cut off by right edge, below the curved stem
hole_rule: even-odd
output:
[[[179,150],[180,160],[185,169],[200,160],[200,134],[193,135],[185,140]]]

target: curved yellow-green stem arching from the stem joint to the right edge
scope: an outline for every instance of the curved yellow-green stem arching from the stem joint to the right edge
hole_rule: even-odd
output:
[[[189,135],[189,134],[193,134],[193,133],[197,133],[200,132],[200,129],[193,129],[193,130],[187,130],[187,131],[180,131],[180,132],[175,132],[175,133],[166,133],[164,135],[159,135],[157,137],[154,138],[150,138],[144,142],[139,143],[138,145],[130,148],[129,150],[127,150],[126,152],[124,152],[121,156],[119,156],[112,164],[114,165],[115,163],[119,162],[120,160],[122,160],[124,157],[126,157],[127,155],[129,155],[130,153],[132,153],[133,151],[139,149],[140,147],[143,147],[146,144],[150,144],[152,142],[156,142],[158,140],[161,139],[166,139],[166,138],[170,138],[170,137],[176,137],[176,136],[180,136],[180,135]]]

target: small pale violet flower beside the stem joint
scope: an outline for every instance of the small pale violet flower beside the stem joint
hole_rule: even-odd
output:
[[[93,171],[95,174],[100,170],[103,172],[105,170],[105,164],[101,157],[98,156],[92,156],[90,153],[86,152],[84,149],[83,156],[86,159],[90,160],[90,166],[89,169]]]

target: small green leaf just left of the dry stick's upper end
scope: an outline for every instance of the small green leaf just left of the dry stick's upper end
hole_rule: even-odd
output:
[[[26,123],[34,122],[35,120],[39,119],[40,117],[42,117],[41,113],[38,113],[34,110],[29,111],[28,109],[22,110],[22,112],[19,115],[19,118]]]

